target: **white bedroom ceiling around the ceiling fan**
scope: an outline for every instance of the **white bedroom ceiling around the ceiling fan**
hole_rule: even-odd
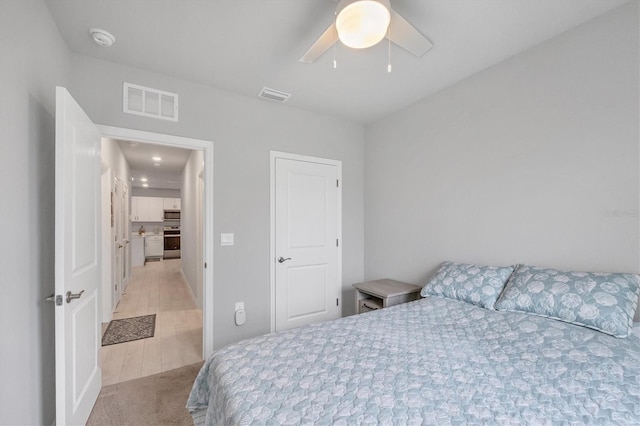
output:
[[[298,59],[333,19],[335,0],[46,0],[70,49],[368,123],[592,19],[627,0],[391,0],[434,47],[417,58],[387,45]],[[111,48],[89,28],[111,32]],[[162,89],[162,88],[159,88]],[[265,101],[267,102],[267,101]]]

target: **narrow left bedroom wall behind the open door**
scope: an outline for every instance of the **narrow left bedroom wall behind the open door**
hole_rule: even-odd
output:
[[[0,424],[55,419],[54,111],[69,52],[44,2],[0,1]]]

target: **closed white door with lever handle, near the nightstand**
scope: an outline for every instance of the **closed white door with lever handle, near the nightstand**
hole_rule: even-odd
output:
[[[340,164],[275,158],[275,329],[340,317]]]

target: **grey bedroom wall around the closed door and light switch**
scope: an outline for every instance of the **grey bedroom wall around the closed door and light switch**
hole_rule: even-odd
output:
[[[233,247],[214,251],[215,347],[269,332],[270,150],[342,161],[343,308],[353,312],[351,284],[364,274],[362,125],[78,55],[72,81],[74,97],[98,124],[213,141],[214,241],[235,233]],[[124,81],[178,93],[180,121],[122,113]],[[238,301],[247,312],[242,327],[233,320]]]

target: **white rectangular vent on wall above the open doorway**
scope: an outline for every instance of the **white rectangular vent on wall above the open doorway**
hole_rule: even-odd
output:
[[[124,83],[123,111],[160,120],[178,121],[178,94]]]

